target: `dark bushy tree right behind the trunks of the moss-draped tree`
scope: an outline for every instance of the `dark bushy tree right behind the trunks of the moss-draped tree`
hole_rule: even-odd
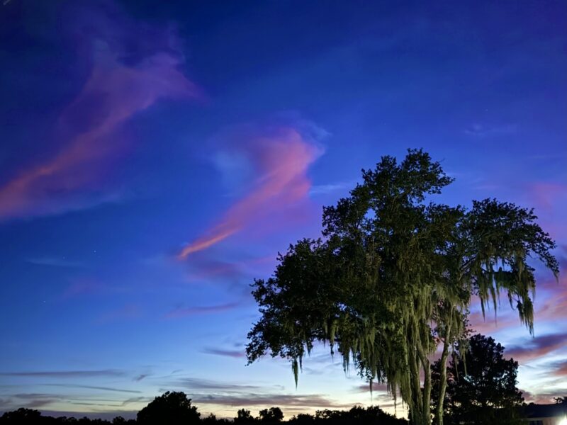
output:
[[[518,363],[504,358],[504,347],[480,334],[461,343],[447,368],[444,413],[449,424],[515,424],[524,401],[517,387]],[[440,378],[440,362],[432,378]],[[432,398],[437,402],[437,398]],[[436,410],[436,409],[435,409]]]

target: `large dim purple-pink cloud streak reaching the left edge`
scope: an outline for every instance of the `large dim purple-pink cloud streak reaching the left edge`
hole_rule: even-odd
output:
[[[50,157],[26,164],[0,186],[0,221],[115,199],[102,180],[105,167],[127,149],[118,133],[123,124],[161,98],[201,96],[179,69],[183,55],[172,28],[149,28],[116,10],[74,13],[74,44],[89,58],[91,72],[47,135],[54,138]]]

